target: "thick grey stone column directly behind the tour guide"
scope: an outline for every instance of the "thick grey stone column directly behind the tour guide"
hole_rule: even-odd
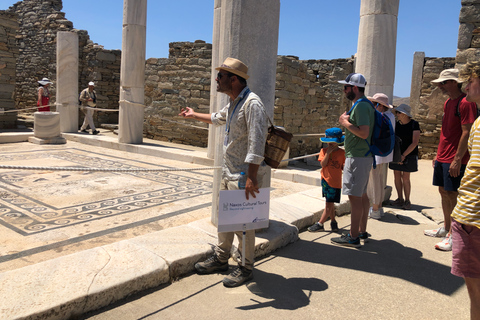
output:
[[[275,77],[277,70],[280,0],[223,0],[220,13],[220,43],[218,62],[232,57],[248,66],[248,86],[262,99],[267,114],[273,121]],[[214,37],[215,39],[215,37]],[[214,44],[215,45],[215,44]],[[212,65],[212,69],[218,65]],[[216,85],[215,85],[216,87]],[[227,102],[227,96],[217,94],[218,107]],[[225,128],[216,129],[215,165],[221,165]],[[221,172],[215,170],[212,198],[212,223],[218,222],[218,187]],[[264,187],[270,186],[270,170]]]

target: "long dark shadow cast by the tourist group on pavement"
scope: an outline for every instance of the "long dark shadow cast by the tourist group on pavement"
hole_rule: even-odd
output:
[[[399,278],[445,295],[464,284],[450,273],[449,266],[424,259],[421,251],[388,239],[370,239],[360,249],[300,240],[276,256]],[[262,281],[261,274],[256,281]]]

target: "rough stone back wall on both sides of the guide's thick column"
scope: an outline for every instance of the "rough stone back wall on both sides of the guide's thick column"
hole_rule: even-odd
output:
[[[206,146],[208,126],[178,117],[181,108],[209,112],[211,45],[203,41],[170,44],[168,59],[149,59],[145,75],[145,131],[152,139]],[[338,126],[350,105],[339,79],[353,70],[353,59],[306,60],[279,56],[275,125],[293,133],[293,156],[318,152],[319,136]]]

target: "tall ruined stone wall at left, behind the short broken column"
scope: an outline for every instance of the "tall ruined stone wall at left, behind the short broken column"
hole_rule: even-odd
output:
[[[98,84],[98,106],[118,109],[120,51],[104,50],[90,40],[86,31],[74,29],[73,23],[61,12],[62,7],[62,0],[24,0],[7,10],[17,15],[19,23],[16,34],[19,46],[16,107],[28,109],[36,106],[37,81],[43,77],[54,83],[50,86],[50,101],[55,103],[57,32],[72,31],[79,36],[79,92],[93,80]],[[94,117],[96,124],[116,123],[117,119],[117,112],[97,112]]]

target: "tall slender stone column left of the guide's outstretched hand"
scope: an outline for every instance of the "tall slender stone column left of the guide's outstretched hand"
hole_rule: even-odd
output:
[[[143,142],[147,0],[124,0],[118,142]]]

